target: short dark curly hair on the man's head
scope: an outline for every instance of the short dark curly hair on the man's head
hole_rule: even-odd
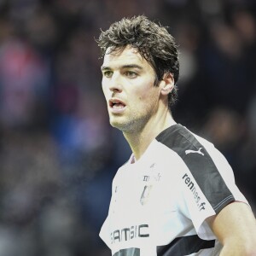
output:
[[[125,49],[126,45],[138,50],[140,55],[154,68],[157,86],[165,73],[172,73],[174,84],[179,75],[177,45],[166,27],[148,20],[144,15],[131,19],[123,18],[114,22],[107,31],[96,40],[102,51],[102,57],[108,53]],[[177,86],[168,95],[169,108],[177,100]]]

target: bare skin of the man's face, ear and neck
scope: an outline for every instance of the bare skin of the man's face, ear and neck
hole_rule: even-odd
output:
[[[174,86],[172,74],[154,86],[153,67],[128,46],[118,54],[105,55],[102,75],[110,124],[123,131],[138,160],[160,131],[175,124],[167,106]],[[115,100],[124,103],[116,110],[109,103]]]

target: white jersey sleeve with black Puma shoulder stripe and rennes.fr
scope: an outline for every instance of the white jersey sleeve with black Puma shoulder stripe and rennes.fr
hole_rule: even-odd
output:
[[[207,218],[218,214],[233,201],[247,203],[236,187],[234,173],[217,148],[183,125],[172,125],[156,140],[177,154],[178,207],[184,222],[194,225],[202,239],[215,239]],[[179,196],[181,198],[179,198]]]

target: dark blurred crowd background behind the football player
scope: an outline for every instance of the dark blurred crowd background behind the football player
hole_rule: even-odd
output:
[[[1,256],[110,255],[98,233],[131,150],[108,124],[95,38],[141,14],[179,44],[174,118],[220,149],[255,212],[255,1],[1,0]]]

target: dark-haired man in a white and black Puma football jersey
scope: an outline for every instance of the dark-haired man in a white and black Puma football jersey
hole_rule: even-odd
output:
[[[132,155],[113,178],[100,236],[114,256],[256,255],[256,224],[212,143],[172,118],[177,46],[145,16],[98,40],[110,124]]]

